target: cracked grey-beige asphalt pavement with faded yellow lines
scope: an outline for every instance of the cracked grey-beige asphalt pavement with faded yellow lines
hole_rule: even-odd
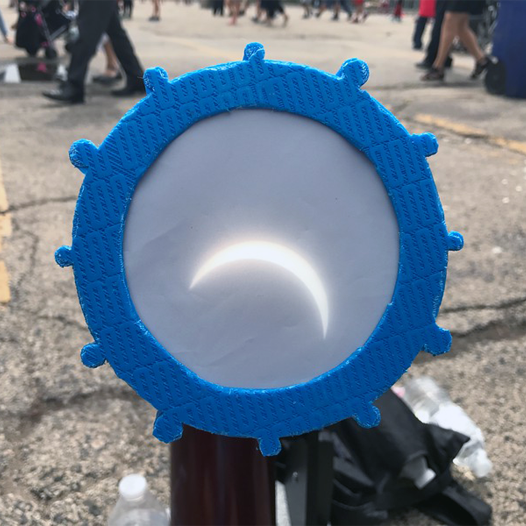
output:
[[[351,26],[328,16],[302,21],[291,8],[285,29],[246,18],[230,28],[197,6],[172,3],[150,24],[149,7],[138,3],[126,22],[146,67],[174,77],[241,57],[249,41],[264,43],[269,58],[330,72],[358,56],[371,69],[365,88],[410,131],[436,134],[430,165],[448,227],[466,245],[450,256],[439,315],[452,349],[422,353],[408,375],[435,378],[484,432],[493,472],[473,480],[456,470],[458,480],[492,504],[494,525],[526,524],[526,102],[468,82],[464,56],[455,57],[445,86],[421,85],[409,16],[392,24],[372,15]],[[4,45],[0,52],[0,68],[23,56]],[[102,68],[97,56],[91,72]],[[168,449],[151,436],[154,411],[109,367],[81,365],[90,335],[72,272],[53,257],[71,240],[82,182],[69,145],[83,137],[100,143],[135,100],[88,85],[86,105],[59,107],[41,97],[45,87],[0,84],[0,261],[8,275],[8,296],[0,289],[0,524],[91,526],[105,524],[117,481],[129,472],[145,473],[168,502]],[[437,523],[410,511],[391,524]]]

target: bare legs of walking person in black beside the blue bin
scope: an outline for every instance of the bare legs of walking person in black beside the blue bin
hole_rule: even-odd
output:
[[[431,69],[422,80],[443,80],[444,68],[448,59],[451,45],[456,37],[466,47],[468,53],[475,59],[475,67],[471,78],[478,78],[490,64],[489,57],[479,46],[477,37],[469,26],[471,15],[480,15],[484,7],[484,0],[448,0],[446,14],[440,33],[440,44],[437,58]]]

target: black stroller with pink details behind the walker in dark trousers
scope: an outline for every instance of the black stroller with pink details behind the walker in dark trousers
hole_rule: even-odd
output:
[[[56,58],[54,42],[68,33],[74,19],[74,11],[66,11],[60,0],[19,2],[15,45],[32,57],[44,49],[46,58]]]

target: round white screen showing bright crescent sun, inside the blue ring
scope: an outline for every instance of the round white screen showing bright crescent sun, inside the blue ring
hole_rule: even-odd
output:
[[[140,180],[125,223],[131,298],[151,334],[225,387],[306,382],[366,342],[398,274],[375,168],[314,120],[207,118]]]

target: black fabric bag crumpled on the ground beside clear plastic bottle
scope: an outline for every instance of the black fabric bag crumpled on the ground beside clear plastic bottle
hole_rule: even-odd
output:
[[[382,414],[378,427],[363,429],[348,419],[325,433],[335,447],[332,526],[372,526],[387,520],[390,510],[409,507],[450,526],[488,524],[491,507],[450,473],[468,438],[420,422],[392,391],[375,404]],[[419,489],[407,473],[421,459],[435,476]]]

